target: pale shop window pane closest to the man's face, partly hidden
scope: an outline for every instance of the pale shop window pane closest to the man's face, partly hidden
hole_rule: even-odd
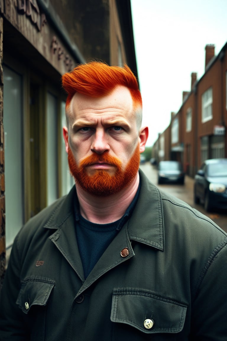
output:
[[[67,127],[66,118],[65,118],[65,102],[61,103],[61,119],[62,119],[62,129],[63,127]],[[61,129],[61,133],[62,133]],[[61,181],[61,194],[67,194],[72,186],[74,185],[74,179],[71,177],[68,168],[68,154],[65,151],[65,141],[63,138],[63,134],[61,134],[61,172],[62,172],[62,181]]]

